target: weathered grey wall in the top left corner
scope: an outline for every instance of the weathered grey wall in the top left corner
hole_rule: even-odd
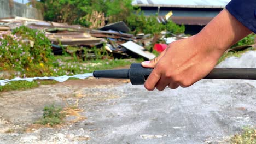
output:
[[[15,16],[43,20],[40,10],[17,2],[14,2],[13,6],[10,7],[8,0],[0,0],[0,18]]]

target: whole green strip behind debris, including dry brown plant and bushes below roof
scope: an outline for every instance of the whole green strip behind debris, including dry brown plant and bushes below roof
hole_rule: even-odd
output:
[[[163,30],[172,33],[183,33],[184,26],[178,26],[172,21],[166,25],[159,23],[156,16],[144,16],[131,0],[41,0],[33,2],[34,7],[41,9],[44,19],[48,21],[80,24],[85,27],[98,28],[104,21],[124,21],[132,33],[160,33]],[[95,17],[98,17],[95,19]]]

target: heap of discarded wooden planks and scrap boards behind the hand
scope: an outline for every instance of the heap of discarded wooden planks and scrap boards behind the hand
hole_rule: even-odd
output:
[[[46,22],[24,17],[0,19],[0,35],[10,33],[12,29],[22,25],[44,31],[52,43],[55,54],[61,54],[65,50],[83,58],[94,58],[95,49],[97,49],[100,52],[108,51],[117,58],[143,57],[144,59],[153,59],[155,55],[143,46],[154,45],[159,39],[168,44],[186,37],[185,35],[173,35],[171,38],[165,38],[166,32],[161,35],[133,35],[128,33],[130,29],[122,21],[110,23],[100,29],[88,29],[80,25]],[[154,50],[161,52],[167,47],[166,44],[160,44],[160,46],[163,47],[159,48],[159,44],[154,46]]]

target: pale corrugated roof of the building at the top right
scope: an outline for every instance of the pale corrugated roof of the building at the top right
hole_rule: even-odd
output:
[[[133,5],[146,7],[224,8],[231,0],[133,0]]]

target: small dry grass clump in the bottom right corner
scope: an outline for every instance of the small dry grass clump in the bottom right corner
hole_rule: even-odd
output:
[[[256,143],[256,129],[245,127],[242,134],[237,134],[231,138],[232,144],[255,144]]]

